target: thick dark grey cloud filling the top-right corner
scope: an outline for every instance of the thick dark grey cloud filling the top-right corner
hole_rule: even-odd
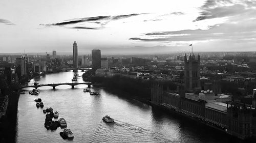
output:
[[[246,12],[250,12],[249,7],[256,6],[256,2],[252,1],[230,1],[230,0],[207,0],[201,10],[200,16],[195,21],[204,19],[221,18],[226,16],[236,16]],[[254,10],[253,10],[254,11]]]

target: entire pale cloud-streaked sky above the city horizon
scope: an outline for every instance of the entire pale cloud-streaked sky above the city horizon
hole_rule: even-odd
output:
[[[255,51],[256,1],[1,0],[0,51]]]

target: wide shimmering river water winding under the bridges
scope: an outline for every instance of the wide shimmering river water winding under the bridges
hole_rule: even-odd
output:
[[[47,74],[31,80],[39,84],[71,82],[74,73]],[[78,81],[83,82],[82,78]],[[41,87],[38,96],[22,94],[18,102],[17,142],[241,142],[203,125],[164,112],[127,96],[115,95],[102,88],[92,87],[100,95],[83,93],[87,85],[60,85]],[[27,88],[32,90],[31,88]],[[59,111],[74,138],[64,140],[59,135],[63,129],[47,130],[45,114],[36,108],[35,98],[40,97],[44,108]],[[102,117],[109,115],[114,123],[105,123]],[[58,119],[55,119],[58,120]]]

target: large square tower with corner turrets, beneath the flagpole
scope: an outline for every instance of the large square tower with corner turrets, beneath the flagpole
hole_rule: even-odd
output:
[[[200,55],[198,54],[196,59],[195,54],[190,54],[187,60],[187,56],[185,54],[184,63],[184,80],[186,90],[190,92],[195,89],[200,90]]]

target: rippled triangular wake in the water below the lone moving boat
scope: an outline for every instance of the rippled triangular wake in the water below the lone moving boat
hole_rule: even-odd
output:
[[[101,122],[89,142],[174,142],[163,134],[115,119],[114,123]]]

